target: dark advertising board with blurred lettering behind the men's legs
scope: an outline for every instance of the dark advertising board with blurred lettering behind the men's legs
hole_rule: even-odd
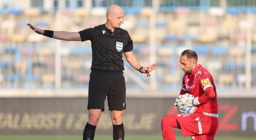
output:
[[[173,101],[175,98],[127,98],[128,106],[123,115],[125,135],[161,136],[162,117],[178,113]],[[218,103],[220,125],[217,136],[256,137],[254,98],[219,98]],[[5,105],[0,106],[1,135],[81,135],[87,123],[86,98],[0,98],[0,104]],[[107,110],[106,102],[96,135],[113,133]],[[181,135],[179,129],[175,131]]]

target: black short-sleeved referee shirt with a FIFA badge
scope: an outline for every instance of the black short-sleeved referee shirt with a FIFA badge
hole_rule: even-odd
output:
[[[116,28],[114,32],[105,24],[79,31],[81,41],[92,44],[91,70],[124,70],[122,53],[133,50],[133,42],[128,32]]]

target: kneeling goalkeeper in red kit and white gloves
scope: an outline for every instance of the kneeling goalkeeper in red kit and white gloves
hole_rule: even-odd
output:
[[[192,140],[214,140],[218,130],[217,92],[211,74],[197,64],[193,50],[184,50],[180,56],[180,68],[184,71],[180,95],[175,106],[197,106],[192,114],[173,114],[162,118],[163,140],[176,140],[173,128],[181,129],[184,137]],[[192,94],[195,98],[188,98]]]

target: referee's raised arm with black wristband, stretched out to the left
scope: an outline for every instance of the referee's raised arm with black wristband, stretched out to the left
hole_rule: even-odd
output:
[[[42,30],[37,28],[36,26],[28,23],[27,24],[33,31],[37,34],[42,34],[44,36],[52,37],[60,40],[68,40],[68,41],[81,41],[80,34],[78,32],[67,32],[67,31],[49,31]]]

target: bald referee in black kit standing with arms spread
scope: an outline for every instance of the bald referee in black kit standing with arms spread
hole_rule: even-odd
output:
[[[111,5],[108,7],[106,16],[105,24],[79,32],[41,30],[30,23],[27,24],[37,34],[55,39],[91,41],[93,56],[87,106],[89,116],[84,128],[83,140],[94,139],[95,129],[101,112],[104,111],[107,96],[113,123],[113,140],[124,140],[122,114],[123,109],[126,109],[126,87],[122,53],[129,64],[140,73],[150,73],[156,69],[156,64],[142,67],[134,56],[131,37],[127,31],[119,28],[124,17],[122,8]]]

